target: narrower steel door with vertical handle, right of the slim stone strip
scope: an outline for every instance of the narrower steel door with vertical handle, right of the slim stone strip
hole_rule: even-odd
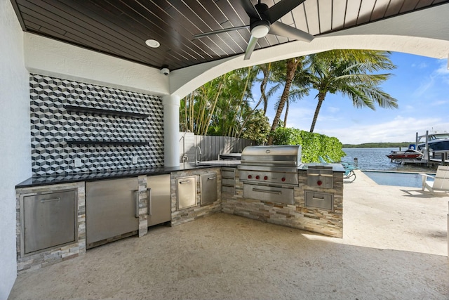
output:
[[[171,220],[170,175],[147,176],[148,226]]]

